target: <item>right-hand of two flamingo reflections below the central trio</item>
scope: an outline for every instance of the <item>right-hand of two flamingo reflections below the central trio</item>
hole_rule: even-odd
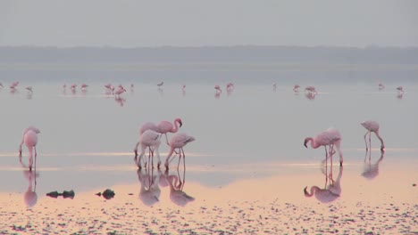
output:
[[[195,198],[189,196],[186,192],[183,191],[184,184],[186,182],[186,169],[183,170],[183,178],[180,178],[179,169],[177,169],[176,174],[169,174],[168,170],[165,171],[165,177],[170,185],[170,199],[176,205],[180,207],[185,207],[189,202],[195,200]]]

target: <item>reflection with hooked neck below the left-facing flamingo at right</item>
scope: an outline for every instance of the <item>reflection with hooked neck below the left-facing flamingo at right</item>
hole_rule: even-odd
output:
[[[343,174],[343,166],[339,166],[339,176],[337,180],[334,181],[332,177],[332,166],[331,174],[325,174],[325,186],[320,188],[318,186],[312,186],[308,191],[307,186],[304,189],[305,197],[311,198],[315,196],[315,199],[319,200],[322,203],[330,203],[336,199],[339,199],[341,195],[341,177]]]

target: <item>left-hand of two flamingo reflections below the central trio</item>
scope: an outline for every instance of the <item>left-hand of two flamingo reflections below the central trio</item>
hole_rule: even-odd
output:
[[[159,186],[160,174],[154,174],[154,168],[137,171],[138,181],[141,184],[139,199],[144,205],[151,207],[160,199],[161,190]]]

